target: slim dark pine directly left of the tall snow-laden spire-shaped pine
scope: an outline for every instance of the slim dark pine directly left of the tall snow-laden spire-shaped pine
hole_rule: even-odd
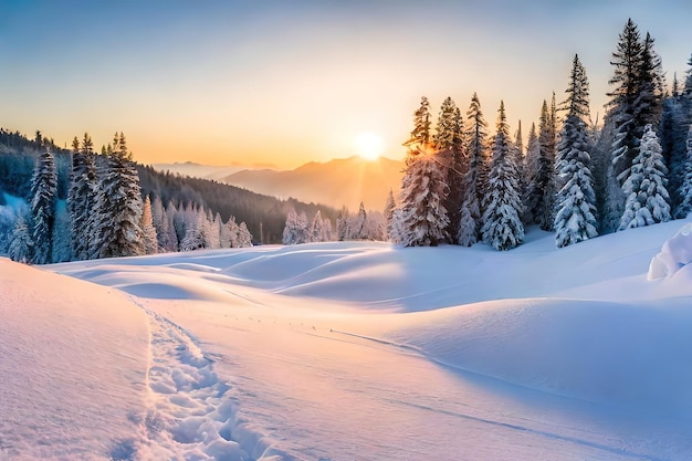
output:
[[[530,146],[531,147],[531,146]],[[531,159],[534,160],[533,158]],[[543,230],[552,230],[555,206],[555,114],[543,101],[538,125],[538,156],[526,186],[526,217]]]

